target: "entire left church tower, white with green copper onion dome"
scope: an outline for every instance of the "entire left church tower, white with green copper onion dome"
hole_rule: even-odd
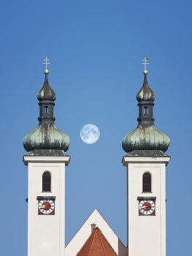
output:
[[[55,127],[55,92],[48,82],[37,94],[39,125],[23,140],[28,154],[28,256],[64,256],[65,167],[69,137]]]

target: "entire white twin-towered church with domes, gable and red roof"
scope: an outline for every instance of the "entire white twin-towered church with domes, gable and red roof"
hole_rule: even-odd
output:
[[[37,94],[39,125],[23,140],[28,152],[28,256],[166,256],[166,165],[169,137],[154,125],[155,94],[144,82],[137,94],[138,125],[123,139],[127,171],[127,245],[96,209],[65,247],[65,169],[69,137],[55,127],[55,92]],[[46,65],[47,66],[47,65]]]

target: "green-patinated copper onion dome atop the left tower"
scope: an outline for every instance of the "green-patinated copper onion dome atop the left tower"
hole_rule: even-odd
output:
[[[39,99],[39,125],[23,139],[23,146],[31,156],[64,156],[69,148],[69,137],[55,127],[53,110],[55,92],[48,82],[48,71],[45,70],[45,83],[37,94]]]

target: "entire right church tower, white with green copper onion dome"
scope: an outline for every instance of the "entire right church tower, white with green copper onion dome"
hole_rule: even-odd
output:
[[[138,126],[123,139],[127,167],[128,256],[166,256],[166,165],[169,137],[154,123],[155,94],[144,82],[137,94]]]

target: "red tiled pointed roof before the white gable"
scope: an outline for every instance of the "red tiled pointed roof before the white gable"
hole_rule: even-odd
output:
[[[96,227],[77,253],[77,256],[118,256],[112,246]]]

